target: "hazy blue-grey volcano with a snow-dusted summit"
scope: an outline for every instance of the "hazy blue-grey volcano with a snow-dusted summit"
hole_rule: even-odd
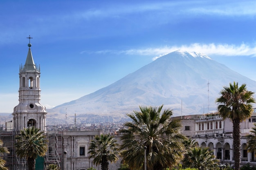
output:
[[[173,109],[174,116],[216,111],[215,99],[229,82],[256,82],[202,53],[174,51],[130,73],[117,82],[74,101],[56,106],[49,115],[111,115],[121,119],[139,106]]]

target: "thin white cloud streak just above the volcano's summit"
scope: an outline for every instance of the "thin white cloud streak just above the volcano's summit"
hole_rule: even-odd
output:
[[[182,46],[164,46],[159,48],[146,48],[146,49],[129,49],[124,51],[117,50],[102,50],[94,53],[106,54],[124,54],[124,55],[156,55],[153,60],[171,53],[176,50],[183,50],[189,52],[200,52],[206,55],[222,55],[222,56],[253,56],[256,57],[256,46],[249,46],[246,44],[234,45],[234,44],[200,44],[194,43],[190,45]]]

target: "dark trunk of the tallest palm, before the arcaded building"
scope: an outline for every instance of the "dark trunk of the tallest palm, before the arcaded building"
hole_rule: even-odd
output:
[[[240,120],[233,120],[233,149],[234,149],[234,161],[235,161],[235,169],[240,170]]]

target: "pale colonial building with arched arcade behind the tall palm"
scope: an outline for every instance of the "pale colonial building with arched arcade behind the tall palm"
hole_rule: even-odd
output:
[[[189,138],[198,141],[200,147],[209,147],[213,150],[216,159],[220,163],[234,165],[233,151],[233,124],[230,119],[223,119],[219,113],[208,113],[203,115],[187,115],[175,117],[182,122],[182,133]],[[241,127],[241,165],[249,163],[256,166],[254,152],[247,152],[247,137],[252,127],[255,127],[256,111],[251,117],[240,123]]]

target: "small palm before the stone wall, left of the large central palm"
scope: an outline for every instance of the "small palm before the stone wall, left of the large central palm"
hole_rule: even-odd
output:
[[[112,163],[118,160],[117,146],[117,141],[110,135],[96,135],[89,147],[89,158],[94,158],[94,165],[101,164],[101,170],[108,170],[108,161]]]

